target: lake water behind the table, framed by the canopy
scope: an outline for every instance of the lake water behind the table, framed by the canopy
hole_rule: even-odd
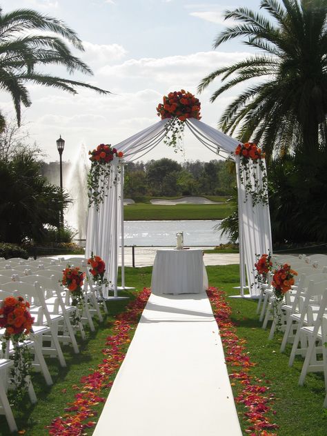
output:
[[[213,230],[220,220],[124,221],[125,246],[175,246],[176,232],[184,233],[184,246],[217,246],[228,238]]]

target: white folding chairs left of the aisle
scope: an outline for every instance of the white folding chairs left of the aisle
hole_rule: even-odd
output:
[[[34,354],[33,367],[41,370],[46,384],[51,385],[52,377],[44,355],[57,357],[59,364],[66,366],[60,343],[72,344],[74,352],[79,353],[75,337],[76,330],[79,330],[83,339],[85,338],[83,324],[87,323],[90,330],[94,331],[95,325],[92,317],[97,315],[99,321],[103,320],[100,305],[105,313],[108,313],[106,302],[98,301],[99,288],[90,277],[86,259],[79,257],[70,258],[66,261],[57,259],[50,263],[48,261],[48,264],[44,259],[37,262],[33,259],[28,263],[25,261],[25,264],[22,263],[22,259],[6,259],[4,263],[8,266],[0,269],[0,299],[4,299],[8,295],[21,295],[27,301],[30,301],[30,312],[35,317],[35,321],[33,333],[30,334],[30,339],[26,341],[26,344]],[[79,266],[87,276],[83,286],[83,313],[77,326],[72,325],[71,322],[72,313],[75,312],[76,308],[70,304],[70,292],[59,285],[63,275],[62,271],[68,263],[70,266]],[[40,265],[43,266],[40,267]],[[0,383],[0,413],[2,411],[6,415],[10,430],[15,431],[17,426],[6,397],[6,392],[10,388],[9,371],[12,366],[12,360],[10,360],[12,353],[14,353],[14,350],[12,344],[10,344],[6,353],[0,355],[0,376],[2,380],[2,383]],[[28,393],[31,402],[36,402],[37,399],[31,381]]]

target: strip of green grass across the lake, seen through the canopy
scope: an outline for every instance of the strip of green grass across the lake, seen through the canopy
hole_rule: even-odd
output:
[[[156,221],[168,219],[224,219],[232,209],[230,204],[176,204],[161,206],[136,203],[124,206],[126,221]]]

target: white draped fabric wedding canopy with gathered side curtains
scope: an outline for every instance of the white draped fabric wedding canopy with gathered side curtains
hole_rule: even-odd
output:
[[[170,119],[161,120],[152,126],[142,130],[132,137],[115,145],[118,151],[123,152],[124,161],[134,161],[146,155],[155,148],[166,136]],[[219,130],[207,124],[190,118],[185,121],[186,126],[199,139],[199,141],[212,150],[212,152],[226,152],[228,155],[235,152],[239,141],[228,137]],[[168,125],[168,126],[166,126]],[[235,159],[234,155],[231,155]],[[268,204],[256,204],[252,206],[252,199],[246,195],[244,184],[241,183],[239,157],[235,159],[237,168],[237,188],[239,195],[239,250],[241,272],[241,295],[245,286],[244,266],[248,279],[251,296],[259,295],[259,289],[255,283],[254,264],[256,255],[272,252],[270,231],[270,215]],[[262,174],[258,166],[251,170],[256,172],[257,180],[262,187]],[[252,176],[251,176],[252,177]],[[117,271],[119,254],[119,237],[121,236],[121,266],[122,284],[123,278],[123,164],[119,159],[111,163],[110,177],[106,188],[106,197],[100,204],[99,210],[91,206],[88,212],[88,226],[86,234],[86,256],[91,252],[101,256],[106,262],[108,280],[110,286],[117,295]]]

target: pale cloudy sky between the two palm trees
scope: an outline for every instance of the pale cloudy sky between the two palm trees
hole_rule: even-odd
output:
[[[201,101],[201,121],[217,127],[228,103],[240,86],[210,103],[219,88],[216,79],[200,95],[197,86],[208,73],[248,56],[239,40],[213,50],[212,43],[231,21],[224,11],[246,6],[259,9],[259,0],[0,0],[3,12],[30,8],[56,17],[74,29],[83,41],[77,56],[88,63],[93,76],[53,70],[63,77],[92,83],[112,92],[102,96],[92,90],[77,95],[28,85],[32,106],[23,110],[30,141],[46,153],[46,161],[59,159],[56,139],[65,139],[64,161],[75,161],[81,150],[99,143],[114,145],[159,121],[156,107],[170,91],[185,89]],[[14,116],[10,96],[0,92],[0,107]],[[184,153],[161,143],[143,161],[169,157],[177,161],[210,161],[217,156],[191,135]]]

